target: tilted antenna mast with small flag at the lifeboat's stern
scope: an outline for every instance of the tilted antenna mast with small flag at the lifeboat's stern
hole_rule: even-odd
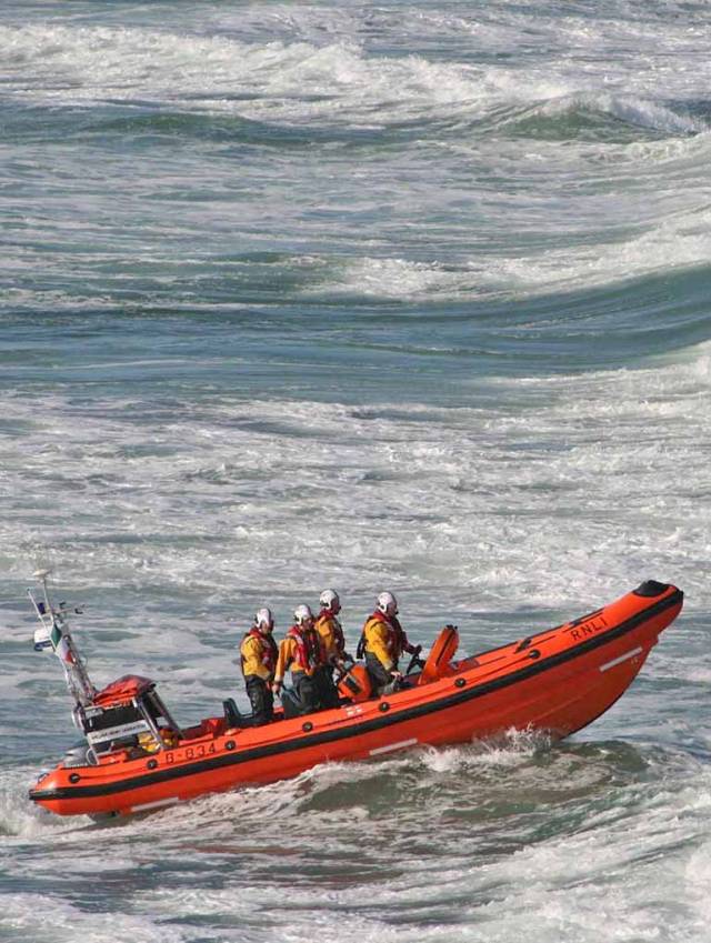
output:
[[[86,661],[79,654],[69,634],[67,603],[52,604],[48,586],[50,573],[51,570],[47,568],[37,570],[32,574],[42,585],[42,599],[36,599],[32,590],[27,591],[40,621],[40,628],[34,632],[34,651],[42,652],[51,649],[62,663],[69,693],[78,706],[86,708],[93,702],[97,689],[91,683]],[[81,612],[81,610],[76,609],[74,612]]]

